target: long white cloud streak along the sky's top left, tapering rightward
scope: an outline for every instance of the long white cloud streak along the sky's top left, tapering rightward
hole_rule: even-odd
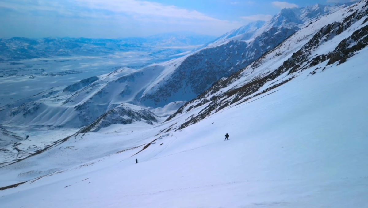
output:
[[[223,22],[223,20],[212,18],[196,10],[186,10],[173,5],[139,0],[3,0],[0,2],[0,7],[22,13],[48,11],[74,17],[130,15],[134,18],[164,17]]]

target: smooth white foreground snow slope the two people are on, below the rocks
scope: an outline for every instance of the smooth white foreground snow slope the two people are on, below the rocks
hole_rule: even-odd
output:
[[[367,207],[367,55],[175,132],[75,135],[1,168],[1,205]]]

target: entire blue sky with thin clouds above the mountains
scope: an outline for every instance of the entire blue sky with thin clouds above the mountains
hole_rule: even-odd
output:
[[[219,36],[285,7],[351,0],[0,0],[0,37]]]

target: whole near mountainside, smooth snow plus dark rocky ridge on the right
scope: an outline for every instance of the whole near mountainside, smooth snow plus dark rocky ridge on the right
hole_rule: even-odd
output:
[[[1,205],[366,207],[367,37],[368,0],[321,17],[166,122],[72,134],[1,167]]]

